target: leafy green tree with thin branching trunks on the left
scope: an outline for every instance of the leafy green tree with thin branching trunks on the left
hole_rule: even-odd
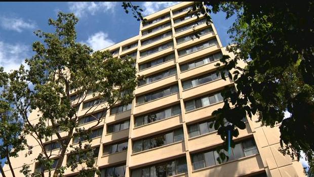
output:
[[[97,121],[85,129],[79,126],[80,118],[100,107],[106,111],[113,104],[124,105],[134,98],[137,85],[134,60],[113,58],[109,51],[93,52],[85,44],[76,42],[77,22],[73,14],[59,12],[56,20],[49,19],[54,32],[34,32],[40,41],[32,45],[35,55],[25,60],[29,69],[21,66],[9,74],[0,70],[0,75],[8,75],[4,79],[3,99],[23,121],[23,136],[33,137],[42,150],[34,159],[38,170],[30,174],[29,166],[24,165],[21,172],[25,176],[45,176],[45,170],[49,176],[62,176],[66,168],[74,170],[83,163],[81,176],[99,173],[94,167],[95,149],[91,147],[90,135],[102,119],[91,114]],[[78,117],[77,106],[91,94],[95,101]],[[6,106],[5,111],[10,110]],[[77,139],[78,144],[70,145],[71,139]],[[47,145],[51,141],[58,144],[60,154],[52,153]],[[66,153],[71,160],[62,166]]]

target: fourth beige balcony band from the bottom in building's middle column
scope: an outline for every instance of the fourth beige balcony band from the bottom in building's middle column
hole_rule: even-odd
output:
[[[167,84],[170,85],[171,83],[174,83],[177,81],[177,77],[178,77],[177,75],[172,75],[172,76],[160,79],[160,80],[156,80],[156,81],[138,86],[135,90],[135,95],[142,94],[144,92],[148,93],[149,90],[151,89],[156,89],[158,87],[161,87]]]

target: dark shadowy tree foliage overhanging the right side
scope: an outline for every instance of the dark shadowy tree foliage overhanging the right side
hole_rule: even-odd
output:
[[[243,116],[257,115],[263,125],[281,124],[283,154],[299,160],[303,151],[309,164],[313,164],[313,6],[312,1],[194,2],[188,13],[204,15],[209,23],[210,13],[225,12],[226,18],[236,17],[228,30],[233,45],[227,48],[235,58],[223,56],[219,72],[229,70],[228,76],[237,84],[237,92],[225,91],[224,106],[213,113],[216,122],[212,126],[224,140],[223,149],[227,149],[228,130],[231,138],[237,137],[239,131],[235,126],[245,128]],[[247,66],[237,67],[239,61]],[[235,70],[234,77],[231,69]],[[284,118],[285,111],[291,116]],[[225,126],[223,118],[232,125]],[[223,154],[220,157],[227,158]]]

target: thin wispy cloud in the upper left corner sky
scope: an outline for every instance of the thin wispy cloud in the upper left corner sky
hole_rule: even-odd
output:
[[[0,25],[4,29],[17,32],[22,32],[24,29],[34,29],[36,27],[36,24],[33,21],[25,21],[22,18],[9,18],[5,16],[0,17]]]

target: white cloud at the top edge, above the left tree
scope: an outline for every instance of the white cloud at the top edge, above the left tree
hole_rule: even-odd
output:
[[[87,14],[95,15],[96,12],[114,12],[116,2],[69,2],[69,9],[77,17],[84,17]]]

